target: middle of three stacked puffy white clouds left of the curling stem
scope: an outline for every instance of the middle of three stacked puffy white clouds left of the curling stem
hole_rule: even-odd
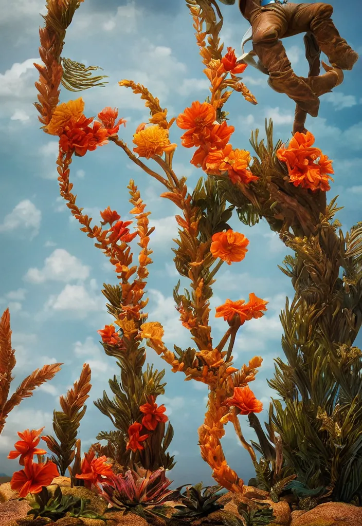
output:
[[[89,276],[87,265],[69,254],[63,248],[56,248],[54,252],[45,259],[42,269],[29,268],[24,279],[32,283],[44,283],[44,281],[73,281],[74,279],[84,280]]]

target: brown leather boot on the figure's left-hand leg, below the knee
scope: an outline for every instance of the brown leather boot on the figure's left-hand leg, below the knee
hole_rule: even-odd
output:
[[[285,93],[312,117],[317,117],[319,99],[305,80],[298,77],[286,55],[280,40],[253,43],[260,62],[269,72],[268,84],[278,93]]]

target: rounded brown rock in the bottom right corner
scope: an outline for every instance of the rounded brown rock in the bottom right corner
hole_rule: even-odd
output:
[[[361,526],[362,508],[344,502],[326,502],[303,515],[294,515],[290,526]]]

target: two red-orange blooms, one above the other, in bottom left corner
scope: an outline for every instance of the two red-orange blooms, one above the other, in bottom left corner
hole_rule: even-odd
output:
[[[34,454],[46,454],[44,449],[36,448],[39,443],[39,435],[44,427],[38,430],[26,429],[17,433],[22,439],[15,443],[16,451],[10,451],[7,458],[15,459],[20,454],[19,464],[24,469],[16,471],[10,481],[10,487],[19,493],[19,497],[25,498],[28,493],[40,493],[43,486],[49,485],[55,477],[59,477],[54,462],[33,462]]]

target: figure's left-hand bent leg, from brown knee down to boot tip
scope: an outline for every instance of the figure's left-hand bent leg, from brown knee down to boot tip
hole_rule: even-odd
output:
[[[253,48],[269,72],[268,84],[278,93],[285,93],[312,117],[318,115],[319,98],[291,68],[280,41],[288,28],[288,19],[280,9],[263,10],[252,19]]]

